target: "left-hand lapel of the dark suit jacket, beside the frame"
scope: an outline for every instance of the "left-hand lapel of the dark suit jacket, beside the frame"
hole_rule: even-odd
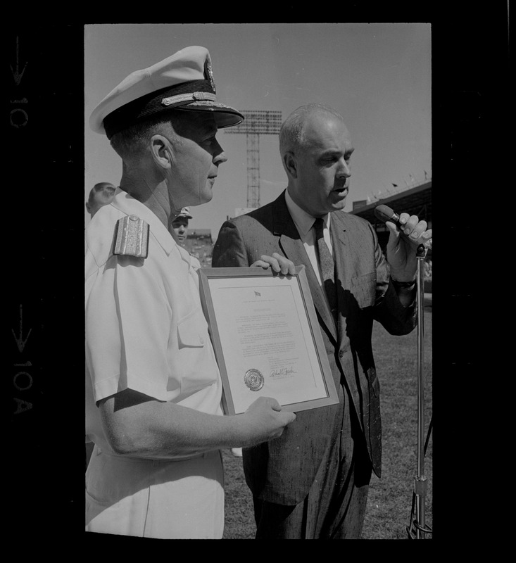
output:
[[[317,281],[317,276],[313,271],[312,263],[308,258],[296,225],[290,216],[287,203],[285,203],[284,192],[277,198],[275,203],[276,205],[273,208],[273,233],[279,236],[279,246],[282,248],[285,257],[292,260],[295,265],[305,265],[306,278],[308,279],[308,286],[310,286],[315,310],[317,310],[320,319],[336,342],[337,333],[332,312],[328,308],[319,281]]]

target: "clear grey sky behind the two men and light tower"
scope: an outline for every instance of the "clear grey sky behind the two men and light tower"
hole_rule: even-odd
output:
[[[94,107],[134,70],[190,45],[210,51],[217,99],[228,106],[285,119],[317,102],[344,116],[355,147],[346,211],[432,177],[429,23],[95,24],[84,26],[84,202],[94,184],[118,186],[122,175],[106,136],[89,129]],[[246,135],[230,130],[218,132],[228,160],[212,201],[190,209],[190,230],[211,229],[213,239],[247,207]],[[265,205],[287,186],[277,135],[260,135],[259,158]]]

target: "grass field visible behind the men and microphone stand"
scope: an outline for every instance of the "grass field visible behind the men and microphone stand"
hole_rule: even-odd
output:
[[[373,350],[382,389],[382,479],[372,476],[363,539],[408,539],[406,527],[417,472],[417,329],[408,336],[391,336],[379,324]],[[432,308],[424,312],[425,431],[432,419]],[[225,539],[252,539],[253,501],[240,457],[223,453],[226,483]],[[432,526],[432,435],[424,458],[427,477],[426,523]],[[428,536],[432,538],[432,536]]]

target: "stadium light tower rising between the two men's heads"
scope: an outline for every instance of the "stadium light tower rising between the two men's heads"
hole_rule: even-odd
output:
[[[260,135],[279,133],[281,111],[241,111],[245,120],[225,133],[245,134],[247,140],[247,207],[260,207]]]

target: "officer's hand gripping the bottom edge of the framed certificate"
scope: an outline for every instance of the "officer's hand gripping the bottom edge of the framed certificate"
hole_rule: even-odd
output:
[[[282,410],[276,399],[258,397],[241,417],[244,426],[244,447],[279,438],[285,426],[294,422],[294,412]]]

